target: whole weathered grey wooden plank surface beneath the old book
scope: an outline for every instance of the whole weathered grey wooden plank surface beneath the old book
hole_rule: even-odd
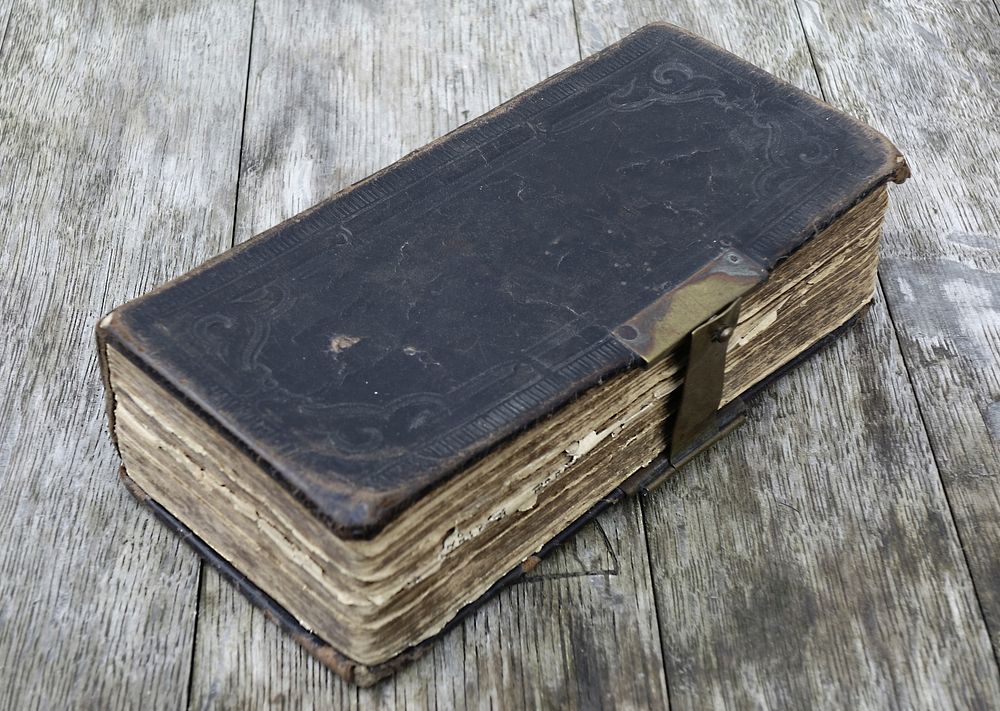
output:
[[[681,476],[347,686],[119,485],[93,325],[655,19],[906,153],[874,308]],[[1000,704],[992,0],[0,0],[0,37],[0,707]]]

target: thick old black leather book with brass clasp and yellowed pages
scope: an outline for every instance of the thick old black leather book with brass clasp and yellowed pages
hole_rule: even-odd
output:
[[[646,27],[102,319],[123,477],[370,683],[858,314],[906,176]]]

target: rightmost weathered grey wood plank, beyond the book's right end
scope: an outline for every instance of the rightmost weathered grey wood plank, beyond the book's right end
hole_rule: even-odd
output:
[[[913,168],[882,281],[1000,652],[1000,13],[988,0],[799,7],[830,101]]]

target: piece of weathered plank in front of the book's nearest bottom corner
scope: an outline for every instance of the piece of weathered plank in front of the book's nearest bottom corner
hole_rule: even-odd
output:
[[[605,512],[531,576],[381,684],[316,662],[213,570],[192,708],[665,708],[639,507]]]

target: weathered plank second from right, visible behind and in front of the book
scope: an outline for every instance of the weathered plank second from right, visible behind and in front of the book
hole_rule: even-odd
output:
[[[666,19],[819,93],[790,3],[679,2],[669,17],[647,2],[577,7],[585,48]],[[644,506],[672,705],[995,704],[988,639],[881,295],[849,338],[759,398],[752,420]]]

